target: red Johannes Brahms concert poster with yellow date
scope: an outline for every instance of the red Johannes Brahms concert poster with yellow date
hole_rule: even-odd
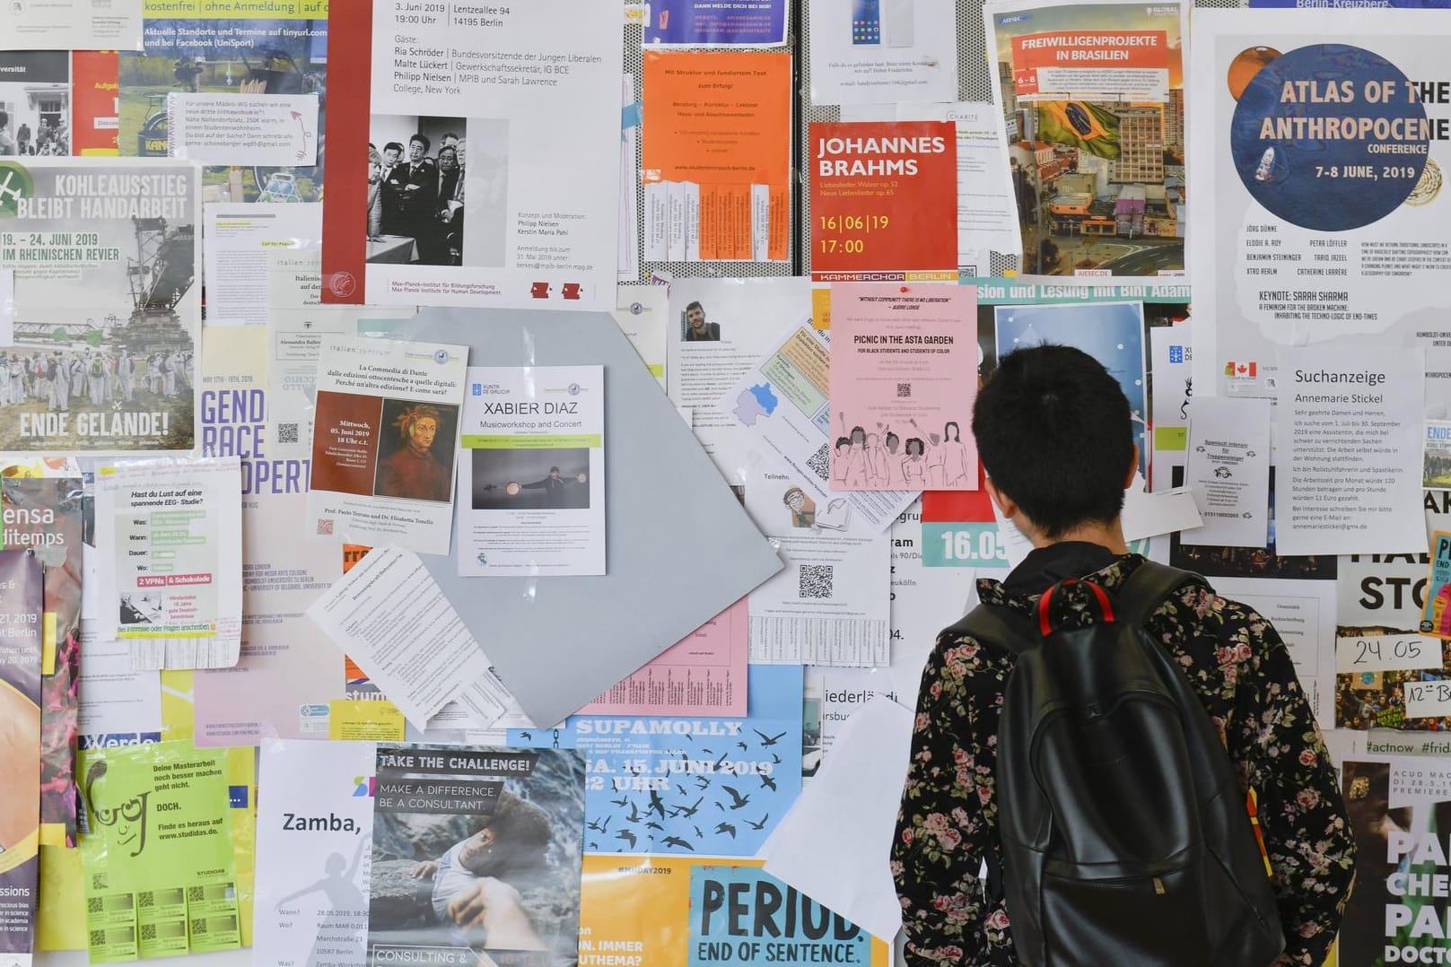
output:
[[[811,125],[811,278],[958,280],[950,120]]]

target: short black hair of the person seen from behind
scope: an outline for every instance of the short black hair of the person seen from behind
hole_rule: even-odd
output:
[[[1123,512],[1129,399],[1082,349],[1045,344],[998,360],[972,407],[972,435],[982,470],[1045,538]]]

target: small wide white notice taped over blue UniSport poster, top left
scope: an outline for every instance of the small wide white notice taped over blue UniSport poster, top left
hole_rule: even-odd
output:
[[[318,164],[318,96],[168,94],[167,157],[311,168]]]

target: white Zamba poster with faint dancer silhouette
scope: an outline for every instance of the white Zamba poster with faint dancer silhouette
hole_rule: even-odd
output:
[[[264,964],[366,961],[376,748],[264,739],[257,803],[252,957]]]

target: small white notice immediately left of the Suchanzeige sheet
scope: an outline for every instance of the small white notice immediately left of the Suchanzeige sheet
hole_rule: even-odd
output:
[[[1184,483],[1204,526],[1183,544],[1262,548],[1270,516],[1270,400],[1201,396],[1188,409]]]

